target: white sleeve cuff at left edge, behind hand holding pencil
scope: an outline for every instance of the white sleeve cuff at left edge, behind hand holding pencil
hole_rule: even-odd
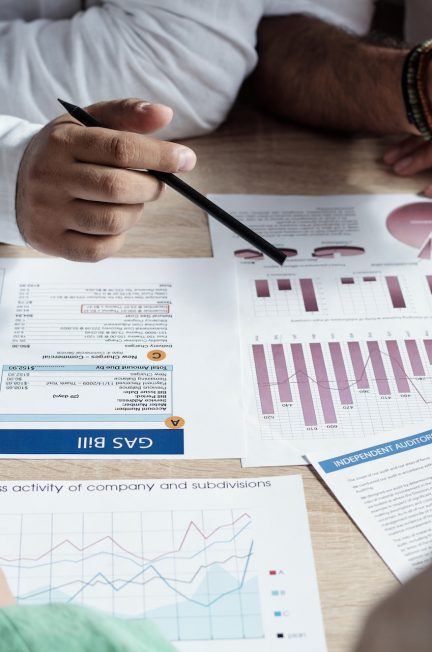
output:
[[[0,242],[24,245],[15,214],[16,180],[22,155],[41,125],[0,115]]]

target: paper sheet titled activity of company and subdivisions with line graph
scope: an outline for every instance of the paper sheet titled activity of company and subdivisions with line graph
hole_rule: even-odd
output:
[[[325,652],[300,476],[0,484],[19,604],[150,618],[184,652]]]

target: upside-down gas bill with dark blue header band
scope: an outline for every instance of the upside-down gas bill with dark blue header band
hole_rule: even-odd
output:
[[[229,265],[2,259],[0,288],[1,456],[243,453]]]

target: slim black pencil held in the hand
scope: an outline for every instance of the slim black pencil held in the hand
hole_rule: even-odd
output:
[[[65,102],[59,99],[59,102],[71,116],[73,116],[78,122],[81,122],[85,127],[103,127],[96,118],[94,118],[90,113],[81,109],[81,107],[69,102]],[[156,179],[163,181],[174,190],[177,190],[181,195],[189,199],[204,211],[215,217],[221,224],[226,226],[231,231],[234,231],[238,236],[249,242],[249,244],[256,247],[261,253],[265,254],[272,260],[274,260],[279,265],[283,265],[286,255],[277,247],[272,245],[270,242],[262,238],[258,233],[252,231],[248,226],[239,222],[235,217],[227,213],[220,206],[214,202],[204,197],[200,192],[189,186],[187,183],[176,177],[171,172],[160,172],[159,170],[147,170],[152,174]]]

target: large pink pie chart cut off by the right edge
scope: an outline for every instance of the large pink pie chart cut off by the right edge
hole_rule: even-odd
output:
[[[432,202],[415,202],[395,208],[387,229],[396,240],[418,249],[418,258],[432,259]]]

